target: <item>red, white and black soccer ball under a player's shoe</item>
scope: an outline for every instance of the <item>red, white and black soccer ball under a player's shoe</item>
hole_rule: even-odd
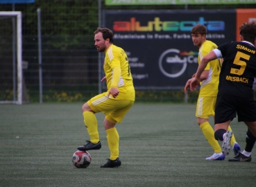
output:
[[[92,161],[92,157],[87,151],[76,151],[73,154],[72,162],[76,168],[87,168]]]

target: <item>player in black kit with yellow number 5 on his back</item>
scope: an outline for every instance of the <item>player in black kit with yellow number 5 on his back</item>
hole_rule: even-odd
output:
[[[207,64],[223,58],[219,77],[219,92],[215,108],[214,136],[223,141],[222,152],[230,151],[232,131],[228,130],[230,121],[238,116],[248,127],[246,149],[229,161],[251,161],[251,151],[256,141],[256,101],[253,98],[253,82],[256,76],[256,23],[244,22],[240,29],[241,42],[221,44],[201,60],[194,78],[187,81],[187,89],[193,91],[200,84],[200,75]]]

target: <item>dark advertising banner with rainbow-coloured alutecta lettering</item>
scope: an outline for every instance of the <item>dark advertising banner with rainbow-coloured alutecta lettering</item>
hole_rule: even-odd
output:
[[[198,67],[191,28],[204,24],[206,39],[236,39],[235,10],[106,10],[104,27],[128,55],[136,89],[182,89]]]

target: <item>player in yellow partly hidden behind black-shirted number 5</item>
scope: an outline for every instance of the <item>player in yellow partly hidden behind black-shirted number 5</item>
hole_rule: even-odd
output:
[[[198,64],[200,64],[200,61],[205,55],[207,55],[207,53],[210,53],[210,51],[218,47],[213,42],[206,40],[206,33],[207,28],[201,24],[197,24],[191,29],[191,38],[194,46],[198,46],[199,48]],[[216,96],[218,94],[221,64],[221,60],[213,60],[207,64],[205,70],[200,75],[200,92],[196,105],[197,123],[202,130],[205,139],[207,139],[208,143],[210,143],[214,150],[214,154],[212,154],[211,157],[207,157],[206,160],[225,159],[225,155],[222,153],[218,141],[216,141],[214,138],[214,130],[209,123],[209,116],[215,116],[214,110],[216,104]],[[231,130],[230,126],[228,127],[228,130]],[[241,148],[234,139],[234,136],[232,136],[230,143],[232,145],[232,149],[234,150],[234,154],[237,155],[241,151]]]

